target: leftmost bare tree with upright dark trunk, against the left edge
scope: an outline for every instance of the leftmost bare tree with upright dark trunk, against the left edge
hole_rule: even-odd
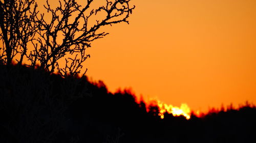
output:
[[[27,45],[38,30],[31,22],[38,13],[36,8],[34,0],[0,1],[0,62],[3,64],[10,65],[14,59],[22,64]]]

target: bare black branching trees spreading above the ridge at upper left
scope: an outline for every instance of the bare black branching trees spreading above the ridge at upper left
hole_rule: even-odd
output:
[[[39,64],[50,73],[58,70],[62,76],[76,75],[90,57],[86,49],[91,42],[108,35],[100,31],[101,27],[129,23],[127,18],[135,8],[130,7],[130,0],[106,0],[101,6],[95,6],[93,0],[84,5],[64,0],[56,8],[46,2],[45,14],[37,11],[35,0],[0,1],[0,40],[4,45],[0,58],[4,64],[10,65],[13,60],[22,64],[26,56],[27,65],[33,68]]]

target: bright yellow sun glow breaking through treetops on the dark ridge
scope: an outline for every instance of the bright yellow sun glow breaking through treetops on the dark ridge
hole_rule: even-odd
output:
[[[172,113],[173,116],[184,116],[186,117],[186,119],[190,119],[190,108],[188,107],[187,104],[181,104],[180,107],[176,107],[176,106],[173,106],[173,105],[168,105],[168,104],[165,104],[161,101],[157,101],[157,105],[159,107],[159,114],[158,116],[161,117],[161,119],[164,118],[164,113],[167,112],[167,113]]]

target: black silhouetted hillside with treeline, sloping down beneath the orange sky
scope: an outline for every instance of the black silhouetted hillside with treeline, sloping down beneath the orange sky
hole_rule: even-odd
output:
[[[256,108],[162,120],[129,91],[0,65],[0,142],[255,142]]]

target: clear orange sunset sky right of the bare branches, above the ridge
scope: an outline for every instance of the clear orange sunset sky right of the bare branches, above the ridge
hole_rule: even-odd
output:
[[[255,0],[131,3],[130,24],[106,27],[87,50],[89,78],[193,110],[256,103]]]

